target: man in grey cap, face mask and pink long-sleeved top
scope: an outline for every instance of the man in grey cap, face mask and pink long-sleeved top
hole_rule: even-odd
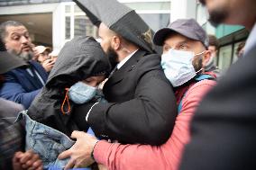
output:
[[[68,167],[83,166],[93,154],[96,162],[109,170],[178,169],[184,145],[189,140],[188,125],[203,96],[215,85],[215,75],[206,73],[204,66],[210,58],[206,31],[194,20],[177,20],[168,28],[157,31],[154,42],[162,46],[161,66],[169,82],[175,86],[178,117],[169,140],[160,147],[150,145],[121,145],[96,140],[75,131],[75,146],[60,157],[71,156]],[[70,152],[79,154],[69,154]]]

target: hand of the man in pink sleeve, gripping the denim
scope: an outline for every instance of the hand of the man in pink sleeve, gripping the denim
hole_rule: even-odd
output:
[[[69,168],[87,167],[95,161],[91,157],[91,153],[96,145],[97,139],[83,131],[73,131],[72,139],[77,139],[76,143],[59,154],[59,159],[70,157],[69,163],[65,166],[65,170]]]

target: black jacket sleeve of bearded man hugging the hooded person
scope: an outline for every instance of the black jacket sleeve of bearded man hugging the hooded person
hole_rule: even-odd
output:
[[[145,65],[137,66],[134,73],[126,75],[136,74],[138,77],[137,82],[134,78],[136,86],[131,100],[97,103],[92,108],[92,104],[83,104],[77,108],[79,113],[90,110],[87,122],[97,137],[150,145],[160,145],[169,139],[177,116],[171,85],[161,69],[142,67]],[[132,84],[125,82],[125,79],[122,81],[124,85]],[[117,84],[122,86],[120,82]]]

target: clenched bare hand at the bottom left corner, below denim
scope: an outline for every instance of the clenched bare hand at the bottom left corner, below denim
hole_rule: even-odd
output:
[[[13,157],[14,170],[42,170],[42,162],[38,154],[32,150],[16,152]]]

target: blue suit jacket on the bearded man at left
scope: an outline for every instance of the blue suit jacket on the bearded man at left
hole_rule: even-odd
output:
[[[30,61],[29,66],[35,69],[46,82],[48,74],[39,63]],[[42,86],[39,78],[32,77],[26,71],[26,67],[18,67],[5,74],[5,83],[1,86],[0,96],[15,103],[21,103],[27,109]]]

